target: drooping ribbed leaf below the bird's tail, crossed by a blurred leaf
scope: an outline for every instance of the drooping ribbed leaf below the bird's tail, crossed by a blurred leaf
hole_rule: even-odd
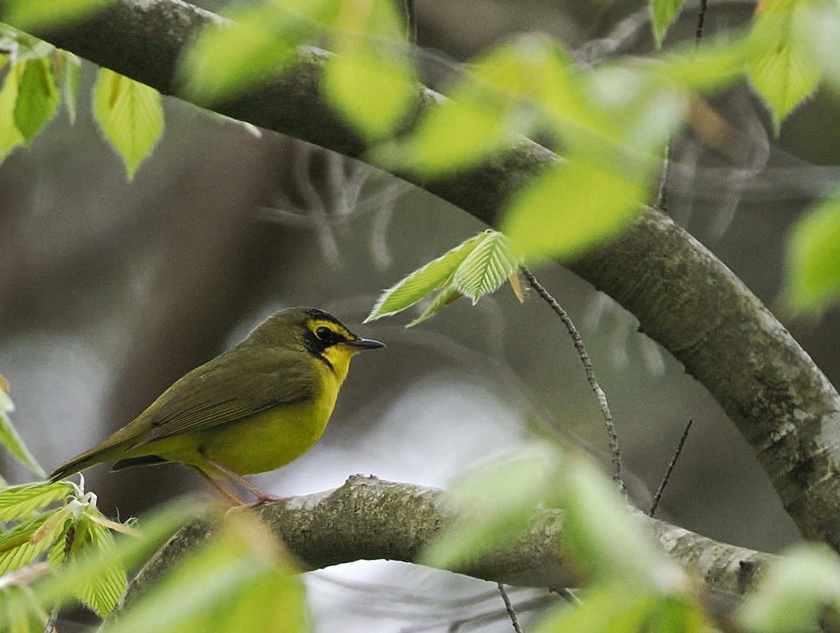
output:
[[[98,512],[95,508],[89,508],[87,512]],[[76,537],[82,533],[87,535],[87,540],[92,551],[87,551],[87,556],[102,556],[110,559],[110,565],[103,566],[96,576],[87,578],[87,582],[79,583],[76,586],[76,596],[83,603],[105,617],[116,606],[119,599],[125,593],[127,584],[125,568],[118,558],[114,556],[113,535],[108,528],[100,526],[91,517],[83,514],[76,525]]]

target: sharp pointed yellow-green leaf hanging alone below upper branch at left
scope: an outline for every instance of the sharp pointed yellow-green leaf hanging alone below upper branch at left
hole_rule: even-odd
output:
[[[93,112],[113,148],[123,157],[129,180],[163,133],[163,106],[154,88],[99,69]]]

